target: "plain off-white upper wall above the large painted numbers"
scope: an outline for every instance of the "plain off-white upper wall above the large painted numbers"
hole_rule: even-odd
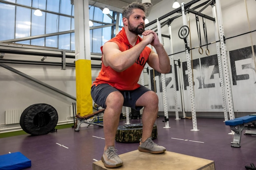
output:
[[[179,2],[190,2],[190,0],[179,0]],[[173,11],[174,9],[171,7],[173,1],[170,0],[162,0],[158,4],[154,5],[152,9],[150,10],[149,16],[147,17],[149,22],[155,20],[158,17],[162,17],[163,15]],[[195,5],[199,5],[200,2],[196,3]],[[223,27],[225,32],[225,37],[232,37],[238,34],[246,33],[249,31],[248,24],[247,24],[247,17],[246,17],[246,9],[245,9],[245,3],[241,0],[221,0],[220,1],[221,7],[222,7],[222,20],[223,20]],[[194,6],[195,6],[194,5]],[[193,8],[194,6],[191,6],[190,8]],[[254,0],[247,0],[247,8],[248,8],[248,14],[249,14],[249,22],[251,24],[252,31],[256,29],[256,11],[255,11],[256,3]],[[196,11],[198,11],[197,9]],[[213,17],[212,15],[212,9],[211,7],[207,7],[204,11],[202,11],[203,14],[209,15]],[[180,13],[175,13],[170,16],[170,18],[178,15]],[[190,33],[191,33],[191,44],[192,48],[199,46],[198,42],[198,34],[196,29],[196,23],[195,23],[195,15],[192,13],[187,14],[187,17],[190,18]],[[166,21],[166,19],[161,20],[161,22]],[[200,17],[200,24],[202,26],[202,18]],[[189,22],[188,22],[189,24]],[[180,27],[183,25],[182,17],[179,17],[171,23],[172,28],[172,37],[173,37],[173,53],[180,52],[184,50],[184,41],[178,37],[178,31]],[[153,24],[152,26],[149,26],[148,28],[151,28],[153,26],[156,26],[156,24]],[[162,28],[162,34],[170,35],[168,32],[168,26],[164,26]],[[203,37],[203,30],[202,31],[202,44],[204,44],[204,37]],[[208,34],[208,42],[215,41],[215,35],[214,35],[214,27],[213,22],[210,20],[207,20],[207,34]],[[256,33],[252,33],[252,37],[254,38],[254,45],[255,45],[255,37]],[[235,42],[235,43],[233,43]],[[169,49],[169,41],[167,38],[164,38],[164,45],[166,48],[166,51],[168,54],[170,53]],[[227,50],[235,50],[238,48],[243,48],[246,46],[251,46],[251,42],[249,39],[249,34],[244,36],[239,36],[234,39],[227,40]],[[216,54],[216,45],[212,44],[209,46],[210,52]],[[202,57],[198,53],[198,49],[195,49],[193,52],[193,58],[199,58]],[[180,57],[184,56],[185,53],[177,54]],[[175,57],[177,58],[177,55]],[[204,55],[206,56],[206,55]]]

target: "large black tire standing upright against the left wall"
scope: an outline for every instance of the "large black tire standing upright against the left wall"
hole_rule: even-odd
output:
[[[20,116],[21,128],[31,135],[45,135],[53,131],[57,123],[56,109],[44,103],[27,107]]]

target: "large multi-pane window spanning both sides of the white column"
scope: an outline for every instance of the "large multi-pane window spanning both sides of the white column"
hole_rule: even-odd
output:
[[[18,44],[54,47],[64,50],[75,50],[74,33],[58,34],[74,30],[74,5],[70,0],[5,0],[0,2],[0,41],[55,33],[50,37],[18,41]],[[10,2],[10,3],[9,3]],[[16,5],[14,4],[16,3]],[[33,15],[39,8],[43,16]],[[115,21],[104,15],[101,9],[89,7],[90,20],[97,28],[90,29],[91,52],[101,53],[100,47],[115,36]],[[110,11],[110,15],[116,13]],[[120,26],[123,26],[121,16]],[[109,26],[105,26],[105,25]],[[120,30],[121,27],[119,27]]]

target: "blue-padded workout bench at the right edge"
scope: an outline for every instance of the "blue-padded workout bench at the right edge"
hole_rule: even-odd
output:
[[[227,126],[230,126],[230,129],[235,132],[233,142],[231,142],[231,147],[240,147],[241,135],[245,129],[256,129],[256,114],[243,116],[240,118],[235,118],[233,120],[225,121]],[[253,131],[245,132],[245,135],[254,134]]]

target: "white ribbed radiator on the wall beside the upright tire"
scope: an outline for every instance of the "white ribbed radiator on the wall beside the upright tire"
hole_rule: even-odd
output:
[[[23,109],[10,109],[5,111],[5,124],[20,123],[20,116]]]

